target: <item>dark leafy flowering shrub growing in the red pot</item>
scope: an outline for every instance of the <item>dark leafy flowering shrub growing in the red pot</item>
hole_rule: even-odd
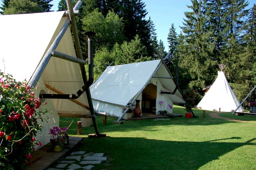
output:
[[[186,102],[185,106],[185,110],[188,113],[192,112],[192,108],[196,105],[196,94],[195,94],[195,90],[189,88],[189,89],[185,89],[183,91],[183,97],[184,100]]]

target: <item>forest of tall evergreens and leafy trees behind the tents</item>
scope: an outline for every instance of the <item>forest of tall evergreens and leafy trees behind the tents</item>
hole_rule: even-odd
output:
[[[2,15],[51,11],[52,0],[2,0]],[[73,5],[77,0],[72,0]],[[256,85],[256,6],[246,8],[247,0],[191,0],[181,32],[169,28],[165,60],[175,75],[178,60],[179,87],[193,88],[202,95],[225,64],[226,78],[241,102]],[[142,0],[82,0],[76,17],[83,57],[87,58],[85,32],[94,31],[94,68],[98,77],[111,62],[113,65],[159,59],[167,55],[162,40],[157,40],[151,18]],[[58,11],[66,10],[60,0]],[[178,57],[178,58],[175,58]],[[174,79],[176,80],[176,79]],[[221,97],[221,96],[220,96]],[[253,92],[246,102],[255,101]],[[197,99],[200,101],[200,97]]]

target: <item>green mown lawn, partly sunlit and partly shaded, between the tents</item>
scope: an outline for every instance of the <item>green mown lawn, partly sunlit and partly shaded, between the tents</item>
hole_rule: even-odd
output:
[[[100,133],[107,137],[88,138],[95,133],[93,126],[82,128],[84,141],[76,149],[87,152],[105,153],[108,161],[96,165],[99,170],[223,170],[256,169],[256,124],[209,117],[202,110],[194,109],[198,118],[187,119],[184,107],[174,105],[174,113],[183,117],[168,120],[122,120],[108,116],[107,125],[102,125],[103,117],[97,117]],[[256,117],[236,116],[221,113],[221,116],[255,121]],[[60,118],[60,126],[67,126],[73,118]],[[68,131],[77,135],[77,121]]]

